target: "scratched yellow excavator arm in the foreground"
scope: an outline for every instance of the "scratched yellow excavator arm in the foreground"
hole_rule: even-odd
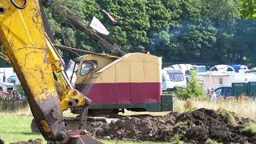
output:
[[[74,107],[86,110],[90,100],[74,90],[66,78],[62,59],[45,33],[40,2],[0,1],[0,41],[26,92],[43,137],[49,142],[69,142],[72,136],[85,133],[65,130],[62,110]],[[49,5],[50,1],[44,3]],[[57,92],[53,73],[60,74],[66,82],[61,95]]]

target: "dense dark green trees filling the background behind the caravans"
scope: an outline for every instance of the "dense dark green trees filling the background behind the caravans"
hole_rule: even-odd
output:
[[[110,31],[107,38],[126,52],[150,51],[164,62],[249,64],[256,60],[256,25],[254,19],[242,17],[241,0],[56,0],[55,4],[66,6],[88,25],[96,16]],[[52,9],[46,13],[56,42],[108,52],[64,18],[51,14]],[[102,9],[118,22],[110,22]],[[64,51],[63,56],[77,55]]]

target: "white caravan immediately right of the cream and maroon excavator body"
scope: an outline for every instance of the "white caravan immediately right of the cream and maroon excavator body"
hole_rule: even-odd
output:
[[[162,90],[174,90],[175,87],[186,88],[186,76],[182,70],[167,67],[162,70]]]

